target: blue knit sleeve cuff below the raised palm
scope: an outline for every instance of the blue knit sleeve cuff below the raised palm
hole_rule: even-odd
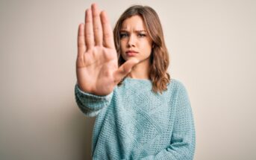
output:
[[[75,101],[78,104],[79,109],[81,109],[81,112],[84,112],[84,115],[89,117],[98,115],[101,109],[109,106],[112,96],[113,92],[105,96],[92,95],[83,92],[79,89],[78,84],[75,84]]]

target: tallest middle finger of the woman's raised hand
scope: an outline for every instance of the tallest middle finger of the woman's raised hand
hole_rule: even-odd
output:
[[[96,4],[92,4],[93,9],[93,33],[96,45],[102,45],[102,23],[99,17],[99,9]]]

